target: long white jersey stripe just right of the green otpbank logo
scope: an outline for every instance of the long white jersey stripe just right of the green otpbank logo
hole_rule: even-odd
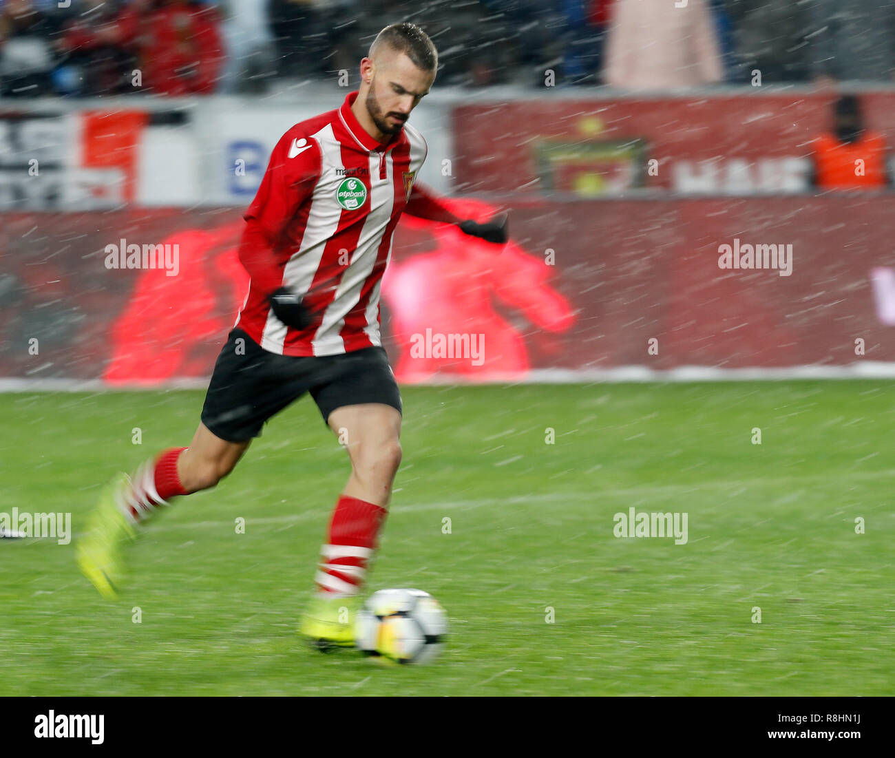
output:
[[[370,171],[370,203],[371,210],[363,221],[361,236],[357,241],[357,249],[354,251],[348,268],[342,275],[336,290],[336,297],[329,303],[323,314],[323,321],[313,342],[315,355],[328,355],[330,353],[344,353],[345,341],[339,332],[345,326],[345,316],[354,308],[361,299],[363,283],[370,277],[373,265],[379,255],[379,245],[382,243],[382,235],[385,234],[388,221],[391,218],[392,208],[395,202],[395,189],[393,184],[393,163],[391,151],[386,154],[386,178],[379,178],[379,153],[371,153],[368,163]],[[369,309],[368,309],[369,310]],[[364,329],[373,345],[380,345],[379,325],[375,319],[375,330],[368,331],[371,326]]]

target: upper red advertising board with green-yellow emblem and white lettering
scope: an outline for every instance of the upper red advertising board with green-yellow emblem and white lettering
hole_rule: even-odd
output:
[[[812,141],[831,128],[833,92],[679,98],[550,98],[456,106],[458,192],[545,197],[803,192]],[[865,123],[895,144],[895,93],[859,96]],[[654,161],[654,163],[651,163]]]

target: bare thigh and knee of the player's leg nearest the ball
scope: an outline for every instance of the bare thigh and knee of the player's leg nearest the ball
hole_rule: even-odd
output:
[[[400,463],[401,413],[391,405],[343,405],[329,414],[327,423],[355,467]]]

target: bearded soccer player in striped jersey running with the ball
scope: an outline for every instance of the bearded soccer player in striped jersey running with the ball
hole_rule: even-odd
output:
[[[392,24],[361,61],[360,89],[277,142],[244,215],[239,257],[251,284],[199,429],[190,447],[166,449],[113,481],[79,543],[81,570],[103,595],[115,597],[121,548],[143,519],[172,498],[214,487],[271,416],[310,392],[345,444],[351,475],[300,631],[320,648],[354,643],[354,610],[401,462],[401,396],[379,338],[379,285],[398,219],[407,212],[507,241],[506,215],[461,221],[414,181],[427,147],[407,118],[437,66],[425,32]]]

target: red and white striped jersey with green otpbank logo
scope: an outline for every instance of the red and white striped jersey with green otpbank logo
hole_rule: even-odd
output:
[[[409,123],[386,143],[373,140],[351,111],[355,98],[283,135],[245,213],[272,251],[274,288],[303,294],[314,317],[310,328],[287,328],[270,310],[270,289],[253,277],[236,325],[272,353],[380,345],[379,285],[427,146]]]

